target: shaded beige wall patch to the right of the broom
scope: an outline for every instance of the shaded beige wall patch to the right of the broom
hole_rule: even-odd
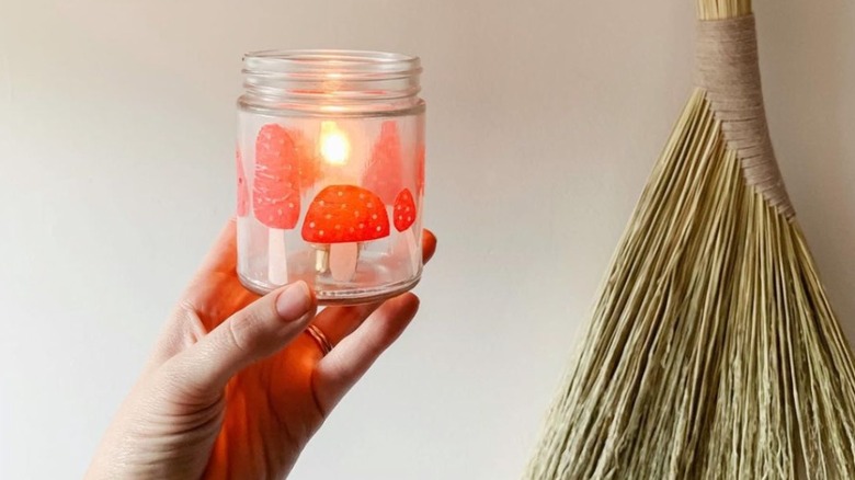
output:
[[[855,4],[757,7],[773,141],[831,302],[855,344],[855,135],[846,134],[855,129]]]

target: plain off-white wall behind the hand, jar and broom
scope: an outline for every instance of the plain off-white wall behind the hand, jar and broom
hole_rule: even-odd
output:
[[[694,1],[0,0],[0,478],[82,475],[235,205],[240,58],[414,53],[440,250],[297,479],[513,479],[689,94]],[[855,3],[757,4],[775,146],[855,333]]]

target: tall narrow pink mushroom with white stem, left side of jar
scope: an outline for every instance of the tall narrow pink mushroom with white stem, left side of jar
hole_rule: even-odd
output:
[[[288,283],[285,230],[297,226],[300,215],[300,178],[297,148],[288,130],[264,125],[255,139],[255,179],[252,207],[269,230],[267,279]]]

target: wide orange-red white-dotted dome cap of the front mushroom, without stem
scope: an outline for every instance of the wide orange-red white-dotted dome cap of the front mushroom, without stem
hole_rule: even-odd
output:
[[[389,236],[389,216],[380,198],[354,185],[330,185],[309,205],[303,239],[310,243],[365,242]]]

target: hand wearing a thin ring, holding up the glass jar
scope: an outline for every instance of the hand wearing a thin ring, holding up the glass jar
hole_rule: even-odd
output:
[[[253,479],[287,476],[344,393],[419,308],[408,293],[329,307],[303,282],[263,297],[236,273],[235,221],[220,235],[167,322],[109,427],[88,479]],[[424,261],[436,238],[425,230]],[[301,334],[314,324],[326,356]]]

